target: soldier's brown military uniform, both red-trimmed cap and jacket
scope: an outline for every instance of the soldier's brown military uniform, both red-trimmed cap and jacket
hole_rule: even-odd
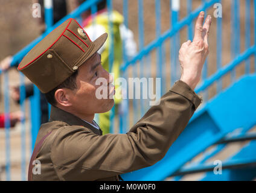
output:
[[[44,93],[68,78],[106,40],[103,34],[100,40],[91,42],[74,19],[54,31],[18,68]],[[66,51],[69,46],[73,52]],[[186,83],[177,81],[161,103],[151,107],[129,132],[105,135],[77,116],[51,107],[50,122],[40,127],[30,162],[31,166],[33,160],[39,160],[41,172],[33,174],[30,168],[28,178],[119,180],[119,174],[153,165],[167,153],[200,102]]]

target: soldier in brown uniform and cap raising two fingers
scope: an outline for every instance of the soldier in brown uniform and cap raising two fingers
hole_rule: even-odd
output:
[[[119,174],[155,164],[184,130],[201,100],[194,89],[208,55],[211,17],[197,19],[193,42],[179,52],[181,80],[162,96],[126,134],[102,135],[95,113],[114,106],[112,77],[101,66],[98,49],[107,34],[91,42],[74,19],[68,19],[22,60],[23,72],[51,103],[50,122],[40,127],[28,180],[119,180]],[[97,85],[98,78],[106,84]],[[110,90],[99,100],[98,87]],[[33,162],[40,174],[33,173]]]

